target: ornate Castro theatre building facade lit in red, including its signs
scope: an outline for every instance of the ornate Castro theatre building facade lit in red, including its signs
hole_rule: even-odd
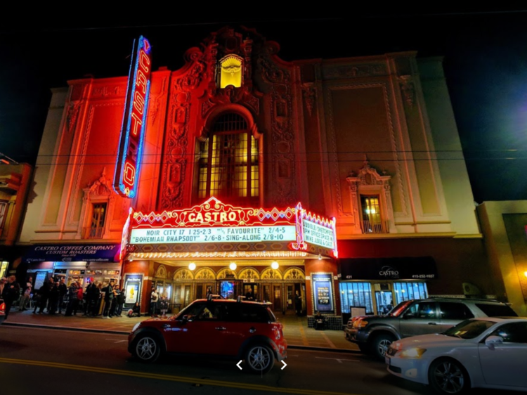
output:
[[[129,77],[53,89],[28,272],[115,276],[143,312],[152,286],[173,311],[207,292],[277,313],[298,299],[335,329],[353,307],[495,295],[440,58],[286,61],[244,27],[186,39],[178,70],[141,37]],[[89,245],[112,256],[44,253]]]

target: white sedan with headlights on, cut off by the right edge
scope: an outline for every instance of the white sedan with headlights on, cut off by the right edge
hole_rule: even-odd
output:
[[[527,391],[527,318],[472,318],[386,351],[389,373],[441,394],[471,387]]]

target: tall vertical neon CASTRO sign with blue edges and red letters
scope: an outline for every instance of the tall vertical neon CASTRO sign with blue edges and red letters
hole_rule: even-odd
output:
[[[141,36],[134,40],[113,183],[115,192],[123,197],[135,197],[137,193],[152,71],[150,51],[148,39]]]

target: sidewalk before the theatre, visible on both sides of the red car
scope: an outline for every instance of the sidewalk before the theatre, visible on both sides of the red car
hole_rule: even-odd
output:
[[[9,318],[2,323],[2,326],[13,325],[34,328],[89,330],[93,332],[117,332],[127,335],[136,323],[148,318],[122,316],[103,319],[101,316],[94,318],[82,316],[81,313],[77,314],[77,316],[65,317],[60,314],[53,316],[46,313],[33,314],[32,310],[23,312],[11,310]],[[358,347],[355,344],[344,339],[344,332],[341,330],[314,330],[313,328],[308,328],[306,317],[278,315],[277,318],[284,324],[284,337],[287,339],[287,344],[292,348],[358,351]]]

